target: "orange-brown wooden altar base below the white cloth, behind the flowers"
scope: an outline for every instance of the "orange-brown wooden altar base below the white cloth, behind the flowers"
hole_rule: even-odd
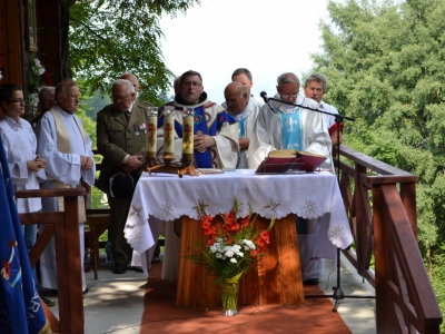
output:
[[[269,223],[258,217],[256,227],[266,229]],[[221,305],[219,286],[212,287],[216,277],[205,277],[206,269],[188,258],[205,243],[199,222],[182,217],[177,307]],[[267,252],[239,282],[238,305],[299,305],[305,296],[294,215],[275,222]]]

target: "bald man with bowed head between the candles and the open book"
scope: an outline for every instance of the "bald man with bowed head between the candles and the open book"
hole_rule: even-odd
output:
[[[254,131],[254,125],[260,106],[249,95],[246,85],[234,81],[227,85],[224,90],[226,102],[222,106],[227,112],[238,122],[239,135],[239,164],[238,169],[248,168],[246,160],[246,151],[250,145],[250,138]]]

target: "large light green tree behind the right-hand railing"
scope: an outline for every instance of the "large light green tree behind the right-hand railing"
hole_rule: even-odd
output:
[[[330,81],[326,100],[356,118],[348,146],[418,175],[419,246],[433,283],[443,282],[445,1],[330,1],[328,11],[323,51],[312,55]]]

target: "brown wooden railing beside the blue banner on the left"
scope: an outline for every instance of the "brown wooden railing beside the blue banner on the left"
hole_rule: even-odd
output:
[[[59,318],[41,303],[52,333],[83,333],[83,296],[80,266],[79,212],[78,196],[83,196],[85,189],[42,189],[17,190],[17,198],[63,197],[65,212],[20,214],[22,225],[46,224],[32,247],[29,258],[36,266],[44,247],[51,237],[56,243],[57,286],[59,298]]]

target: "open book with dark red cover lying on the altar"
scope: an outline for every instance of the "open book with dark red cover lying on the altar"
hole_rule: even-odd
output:
[[[290,170],[314,171],[326,156],[295,149],[271,150],[255,173],[275,174]]]

